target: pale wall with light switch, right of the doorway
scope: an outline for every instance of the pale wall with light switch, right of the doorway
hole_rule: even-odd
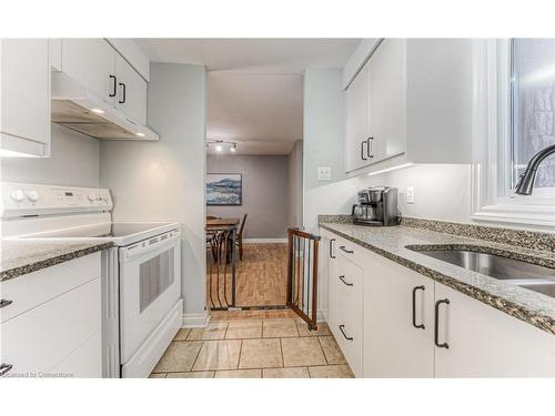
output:
[[[317,215],[346,213],[356,196],[345,179],[344,109],[341,70],[306,70],[303,105],[304,227],[317,233]],[[332,181],[317,181],[317,166]]]

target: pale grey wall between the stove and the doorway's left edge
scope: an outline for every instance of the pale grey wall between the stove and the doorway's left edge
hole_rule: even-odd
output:
[[[153,63],[149,124],[159,142],[102,142],[100,182],[112,190],[115,221],[183,225],[185,314],[205,307],[205,69]]]

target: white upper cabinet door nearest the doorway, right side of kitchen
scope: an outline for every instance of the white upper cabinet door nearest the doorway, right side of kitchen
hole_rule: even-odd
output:
[[[345,170],[366,165],[370,138],[370,67],[366,63],[345,91]]]

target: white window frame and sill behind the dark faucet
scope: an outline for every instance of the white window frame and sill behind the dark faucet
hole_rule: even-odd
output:
[[[511,91],[508,39],[475,40],[472,219],[555,231],[555,197],[545,190],[511,194]]]

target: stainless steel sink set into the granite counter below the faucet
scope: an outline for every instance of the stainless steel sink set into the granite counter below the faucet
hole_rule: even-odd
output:
[[[434,250],[422,246],[407,246],[407,248],[505,281],[508,284],[555,297],[555,268],[470,250]]]

